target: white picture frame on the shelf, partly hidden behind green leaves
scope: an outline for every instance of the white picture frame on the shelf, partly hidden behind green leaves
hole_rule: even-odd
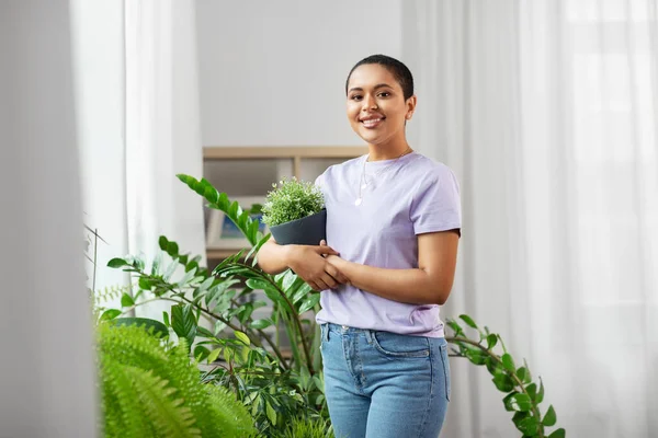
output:
[[[265,198],[261,196],[229,196],[231,201],[237,201],[242,210],[251,210],[254,205],[263,205]],[[262,214],[252,214],[251,219],[262,219]],[[269,233],[268,227],[260,223],[260,232]],[[251,247],[240,229],[222,210],[211,209],[206,229],[206,247],[208,250],[242,250]]]

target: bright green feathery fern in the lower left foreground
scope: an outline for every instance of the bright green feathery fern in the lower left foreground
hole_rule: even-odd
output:
[[[201,382],[184,342],[172,346],[143,327],[109,322],[97,332],[106,437],[254,435],[232,393]]]

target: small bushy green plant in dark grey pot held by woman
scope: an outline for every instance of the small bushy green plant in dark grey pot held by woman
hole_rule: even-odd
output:
[[[282,180],[272,184],[263,206],[262,221],[282,245],[317,245],[327,239],[325,197],[310,182]]]

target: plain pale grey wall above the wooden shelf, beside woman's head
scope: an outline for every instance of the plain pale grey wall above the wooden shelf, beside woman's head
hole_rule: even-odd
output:
[[[197,3],[204,146],[351,146],[344,81],[401,55],[401,0]]]

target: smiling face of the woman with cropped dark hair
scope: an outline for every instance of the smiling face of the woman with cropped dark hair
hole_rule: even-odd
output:
[[[370,145],[406,141],[405,122],[411,118],[416,96],[405,101],[402,88],[385,67],[359,66],[348,83],[348,119]]]

